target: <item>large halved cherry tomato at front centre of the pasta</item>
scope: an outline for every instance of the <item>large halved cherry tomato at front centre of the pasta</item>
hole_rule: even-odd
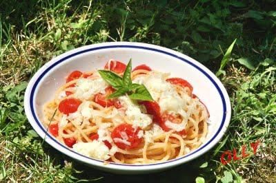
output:
[[[139,127],[135,130],[132,127],[132,125],[123,123],[123,124],[115,127],[115,129],[113,129],[113,131],[111,133],[111,138],[113,139],[113,141],[115,142],[117,147],[119,147],[120,149],[133,149],[135,147],[138,147],[139,144],[141,143],[142,139],[138,137],[138,132],[140,130],[141,129]],[[121,136],[122,132],[126,133],[126,135],[128,136],[128,139],[124,139]],[[117,142],[116,140],[114,140],[115,138],[121,138],[122,140],[126,140],[126,141],[130,142],[130,145],[125,144],[123,142]]]

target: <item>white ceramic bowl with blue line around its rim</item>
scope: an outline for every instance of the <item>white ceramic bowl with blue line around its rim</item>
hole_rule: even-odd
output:
[[[161,72],[170,72],[171,76],[188,80],[196,94],[207,106],[210,112],[210,124],[206,142],[195,151],[174,160],[155,164],[103,164],[103,161],[88,158],[58,142],[42,125],[42,106],[54,98],[58,87],[65,83],[65,77],[73,70],[88,72],[92,69],[102,69],[110,59],[127,63],[132,58],[132,65],[145,64]],[[30,124],[35,131],[45,138],[52,147],[66,155],[96,169],[112,173],[150,173],[184,164],[203,155],[211,149],[224,135],[230,121],[230,100],[226,89],[219,79],[209,69],[193,58],[165,47],[145,43],[114,42],[88,45],[71,50],[43,65],[34,74],[24,98],[24,107]]]

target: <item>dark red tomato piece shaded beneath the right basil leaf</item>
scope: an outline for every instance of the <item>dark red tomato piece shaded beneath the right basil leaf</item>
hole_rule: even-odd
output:
[[[146,107],[147,113],[152,115],[152,121],[159,124],[161,122],[161,112],[160,106],[157,102],[151,101],[141,101],[139,105],[144,105]]]

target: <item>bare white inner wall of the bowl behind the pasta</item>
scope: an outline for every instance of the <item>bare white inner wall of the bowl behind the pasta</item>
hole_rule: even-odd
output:
[[[200,98],[210,112],[206,141],[215,135],[219,125],[221,125],[224,112],[219,92],[208,79],[208,76],[193,65],[178,58],[160,52],[134,48],[110,48],[85,52],[72,56],[52,67],[43,76],[34,92],[34,111],[39,120],[41,122],[43,120],[43,105],[54,98],[55,92],[65,83],[65,78],[70,72],[73,70],[88,72],[93,69],[102,69],[110,58],[124,63],[128,63],[129,59],[132,58],[132,68],[140,64],[146,64],[154,70],[170,73],[172,77],[181,77],[188,80],[194,87],[193,93]]]

